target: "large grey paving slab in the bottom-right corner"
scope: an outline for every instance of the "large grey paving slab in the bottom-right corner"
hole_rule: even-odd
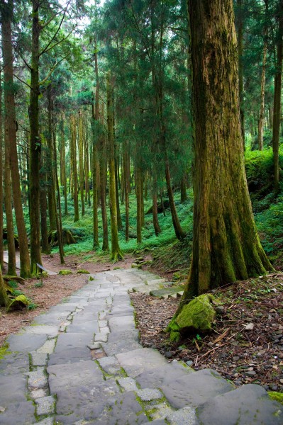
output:
[[[282,404],[271,400],[260,385],[253,384],[209,399],[196,412],[204,425],[283,424]]]

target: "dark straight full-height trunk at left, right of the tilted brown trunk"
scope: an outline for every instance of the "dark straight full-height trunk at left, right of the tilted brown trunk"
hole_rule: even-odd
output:
[[[30,66],[30,272],[32,276],[37,273],[36,263],[41,264],[40,253],[40,183],[39,167],[41,140],[38,121],[38,96],[39,87],[39,36],[40,21],[38,0],[32,0],[33,23],[31,42]]]

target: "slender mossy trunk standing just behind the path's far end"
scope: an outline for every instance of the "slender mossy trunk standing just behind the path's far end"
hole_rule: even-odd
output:
[[[107,74],[107,130],[109,141],[109,198],[111,213],[111,259],[118,261],[123,259],[123,254],[118,240],[116,182],[115,182],[115,141],[113,120],[113,88],[110,73]]]

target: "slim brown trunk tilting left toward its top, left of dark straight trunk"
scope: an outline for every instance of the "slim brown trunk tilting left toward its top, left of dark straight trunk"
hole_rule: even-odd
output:
[[[9,156],[11,166],[11,182],[13,189],[13,206],[16,215],[18,230],[18,244],[20,249],[21,277],[30,276],[30,256],[28,253],[28,237],[23,218],[21,201],[21,183],[18,170],[18,152],[16,145],[16,110],[13,86],[13,51],[11,35],[11,18],[13,14],[13,0],[9,0],[6,13],[2,13],[2,52],[4,62],[4,103],[6,122],[6,142],[9,143]]]

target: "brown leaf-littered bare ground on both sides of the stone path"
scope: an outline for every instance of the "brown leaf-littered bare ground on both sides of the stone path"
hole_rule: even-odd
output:
[[[68,276],[48,276],[40,280],[28,279],[19,290],[33,301],[34,310],[9,312],[0,309],[0,346],[9,334],[30,324],[34,317],[52,305],[64,301],[87,283],[89,273],[129,268],[135,258],[126,255],[123,261],[111,263],[106,258],[68,256],[60,265],[58,254],[43,256],[43,265],[50,271],[70,269]],[[148,266],[149,267],[149,266]],[[170,280],[172,276],[155,268],[150,271]],[[141,344],[157,348],[169,361],[182,360],[195,370],[213,368],[224,378],[235,382],[259,383],[268,390],[283,391],[283,275],[273,273],[250,279],[214,291],[223,309],[218,314],[211,334],[186,336],[179,344],[169,344],[165,332],[174,315],[179,299],[160,300],[133,293]]]

